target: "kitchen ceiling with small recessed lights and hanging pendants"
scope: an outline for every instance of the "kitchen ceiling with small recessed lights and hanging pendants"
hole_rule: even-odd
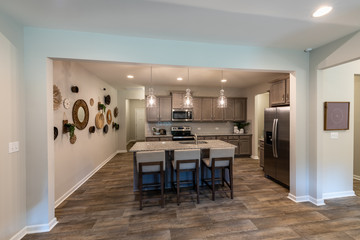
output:
[[[95,74],[117,89],[149,86],[151,81],[153,86],[248,88],[260,83],[272,82],[289,75],[289,73],[284,72],[190,67],[188,79],[188,68],[183,66],[151,66],[148,64],[83,60],[71,61],[79,63],[87,71]],[[127,75],[133,75],[134,78],[128,79]],[[226,83],[221,84],[222,76],[227,80]],[[183,80],[177,81],[178,77],[182,77]]]

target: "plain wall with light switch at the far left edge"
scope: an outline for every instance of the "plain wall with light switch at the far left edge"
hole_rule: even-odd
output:
[[[25,89],[22,27],[3,15],[0,66],[0,240],[8,240],[16,234],[21,238],[26,226]],[[20,151],[9,154],[8,144],[14,141]]]

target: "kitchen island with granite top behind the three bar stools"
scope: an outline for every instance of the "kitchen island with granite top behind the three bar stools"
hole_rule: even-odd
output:
[[[138,189],[138,174],[137,174],[137,164],[136,164],[136,152],[142,151],[160,151],[165,150],[165,160],[166,160],[166,170],[165,170],[165,187],[171,187],[171,160],[173,156],[174,150],[184,150],[184,149],[200,149],[201,156],[205,150],[210,148],[227,148],[233,147],[236,148],[237,146],[221,141],[221,140],[199,140],[198,144],[195,144],[195,141],[159,141],[159,142],[137,142],[134,146],[129,150],[130,152],[134,153],[134,191]],[[201,161],[201,159],[200,159]],[[146,183],[148,179],[153,180],[153,176],[147,175],[147,179],[144,179]],[[186,176],[187,177],[187,176]]]

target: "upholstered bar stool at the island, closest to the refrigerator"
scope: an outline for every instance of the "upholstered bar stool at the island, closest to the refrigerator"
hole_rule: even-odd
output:
[[[212,200],[215,201],[215,181],[221,181],[222,186],[224,183],[228,185],[230,190],[231,199],[234,197],[233,193],[233,161],[234,161],[235,148],[210,148],[209,158],[202,159],[201,180],[212,191]],[[204,168],[211,171],[211,178],[204,179]],[[215,170],[221,169],[220,178],[215,178]],[[229,170],[229,182],[226,180],[225,170]],[[211,183],[211,185],[209,184]],[[219,190],[218,190],[219,191]]]

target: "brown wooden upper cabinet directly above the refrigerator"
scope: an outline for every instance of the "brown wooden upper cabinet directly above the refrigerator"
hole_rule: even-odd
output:
[[[270,105],[290,104],[290,79],[283,79],[274,82],[270,87]]]

